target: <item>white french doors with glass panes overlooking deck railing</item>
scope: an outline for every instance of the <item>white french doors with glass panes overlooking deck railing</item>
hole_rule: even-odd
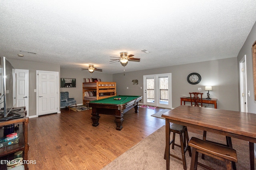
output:
[[[144,101],[150,106],[172,107],[172,74],[154,74],[143,76]]]

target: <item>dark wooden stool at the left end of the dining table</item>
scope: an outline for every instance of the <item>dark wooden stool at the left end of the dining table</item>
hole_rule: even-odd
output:
[[[183,161],[183,168],[184,170],[187,169],[187,165],[186,165],[186,157],[185,157],[185,153],[188,150],[189,152],[189,156],[191,156],[191,149],[190,146],[188,146],[188,129],[186,126],[183,125],[178,125],[178,124],[172,124],[170,125],[170,132],[173,133],[172,135],[172,141],[170,141],[170,145],[172,144],[172,149],[174,149],[174,145],[181,147],[181,153],[182,153],[182,158],[174,155],[174,154],[170,154],[170,150],[169,150],[169,154],[170,156],[178,159],[178,160],[182,160]],[[178,133],[180,135],[180,145],[175,143],[175,134]],[[170,137],[170,134],[169,134]],[[164,159],[166,159],[166,152],[164,152]]]

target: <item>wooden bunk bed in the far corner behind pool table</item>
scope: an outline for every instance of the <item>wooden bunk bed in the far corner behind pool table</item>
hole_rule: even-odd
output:
[[[116,96],[116,82],[84,82],[83,105],[86,102]]]

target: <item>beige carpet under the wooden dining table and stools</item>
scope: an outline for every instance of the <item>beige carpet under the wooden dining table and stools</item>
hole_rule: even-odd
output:
[[[189,133],[189,137],[198,137],[202,139],[202,135],[195,133]],[[220,135],[221,136],[221,135]],[[176,139],[179,140],[178,137]],[[210,138],[208,138],[210,139]],[[222,139],[222,138],[221,138]],[[225,140],[225,137],[223,137]],[[216,141],[214,139],[210,139]],[[178,141],[176,143],[179,143]],[[238,145],[233,146],[238,152],[238,163],[236,163],[237,170],[249,170],[250,158],[249,158],[249,146],[241,147]],[[165,126],[161,127],[146,139],[124,152],[118,158],[110,162],[102,170],[166,170],[166,160],[164,160],[165,149]],[[174,147],[171,149],[172,153],[181,157],[180,147]],[[187,168],[190,169],[191,157],[186,152]],[[201,159],[201,154],[198,154],[198,162],[207,164],[208,166],[215,168],[216,170],[226,169],[225,164],[209,156],[205,156],[205,160]],[[201,166],[198,166],[198,170],[203,170]],[[170,170],[183,170],[182,161],[170,156]]]

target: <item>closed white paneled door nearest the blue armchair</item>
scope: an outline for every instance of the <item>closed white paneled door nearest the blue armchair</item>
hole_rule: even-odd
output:
[[[37,115],[58,112],[58,72],[37,71]]]

